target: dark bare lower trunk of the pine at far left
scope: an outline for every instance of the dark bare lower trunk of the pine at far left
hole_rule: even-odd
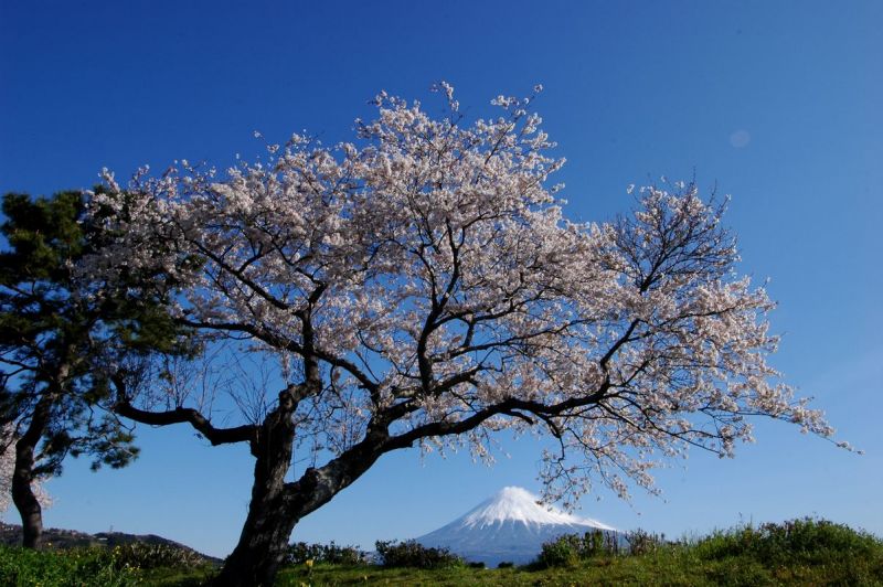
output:
[[[21,515],[22,546],[40,548],[43,535],[43,509],[34,495],[34,451],[46,429],[52,397],[44,395],[34,407],[28,429],[15,442],[15,469],[12,472],[12,502]]]

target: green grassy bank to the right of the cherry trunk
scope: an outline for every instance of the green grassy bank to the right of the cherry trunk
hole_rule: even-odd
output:
[[[565,557],[557,567],[434,570],[290,568],[279,585],[881,585],[883,541],[840,524],[796,520],[742,526],[640,554]]]

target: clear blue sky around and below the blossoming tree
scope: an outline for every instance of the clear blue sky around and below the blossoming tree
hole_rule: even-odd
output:
[[[664,499],[609,493],[584,513],[680,535],[817,514],[883,534],[883,2],[13,2],[0,0],[0,191],[88,188],[173,159],[219,167],[309,129],[351,137],[380,89],[467,113],[526,94],[568,163],[572,216],[605,220],[666,174],[733,194],[743,269],[772,278],[774,364],[859,457],[759,423],[735,460],[693,453]],[[123,471],[72,461],[49,525],[157,533],[228,553],[245,447],[140,430]],[[464,455],[385,457],[295,537],[371,546],[447,523],[508,484],[538,490],[535,447],[488,469]],[[687,467],[684,467],[684,465]],[[7,514],[7,520],[14,516]]]

